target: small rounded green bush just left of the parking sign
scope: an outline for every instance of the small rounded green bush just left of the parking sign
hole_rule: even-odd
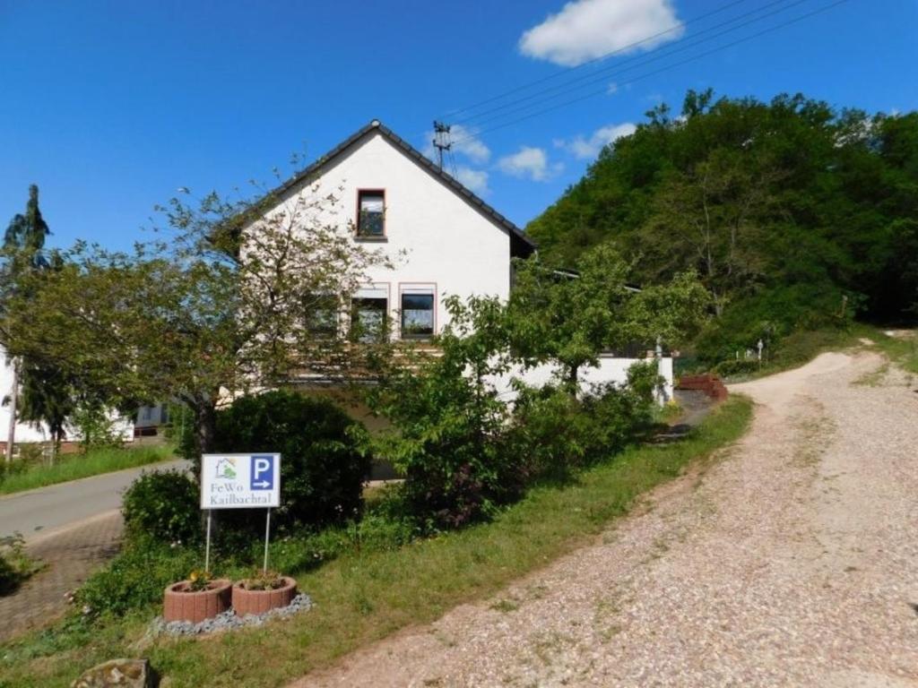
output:
[[[197,483],[184,472],[144,473],[124,494],[121,512],[132,538],[189,542],[200,538]]]

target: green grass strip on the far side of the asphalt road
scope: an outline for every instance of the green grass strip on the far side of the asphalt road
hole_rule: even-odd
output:
[[[33,490],[45,485],[66,483],[99,473],[123,471],[172,458],[173,449],[169,446],[90,449],[85,454],[63,454],[53,466],[33,463],[22,472],[7,474],[0,479],[0,494]]]

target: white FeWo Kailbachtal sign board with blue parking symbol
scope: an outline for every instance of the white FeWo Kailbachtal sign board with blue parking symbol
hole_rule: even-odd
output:
[[[201,457],[202,509],[279,506],[280,454],[204,454]]]

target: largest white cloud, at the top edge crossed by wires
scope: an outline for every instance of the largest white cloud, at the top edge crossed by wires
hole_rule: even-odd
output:
[[[644,42],[624,52],[651,50],[684,31],[671,0],[572,0],[525,31],[519,47],[523,55],[574,67],[638,41]]]

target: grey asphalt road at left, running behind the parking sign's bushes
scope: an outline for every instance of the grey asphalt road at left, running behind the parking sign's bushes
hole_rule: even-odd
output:
[[[44,538],[51,531],[114,512],[121,506],[125,488],[141,472],[187,465],[184,460],[168,461],[0,497],[0,535],[18,531],[31,542]]]

